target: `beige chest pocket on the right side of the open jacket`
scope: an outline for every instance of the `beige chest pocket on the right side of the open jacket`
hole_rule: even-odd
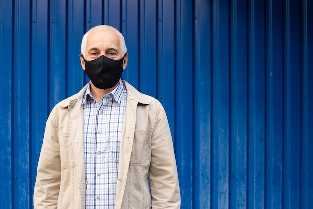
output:
[[[135,130],[130,157],[130,166],[144,166],[147,162],[148,137],[144,130]]]

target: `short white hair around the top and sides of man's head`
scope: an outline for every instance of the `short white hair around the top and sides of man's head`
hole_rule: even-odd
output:
[[[108,31],[108,30],[111,30],[111,31],[115,31],[116,34],[118,35],[119,37],[119,42],[120,42],[120,48],[121,48],[121,53],[123,55],[125,55],[127,53],[127,47],[126,47],[126,43],[125,43],[125,39],[124,39],[124,36],[114,27],[112,26],[108,26],[108,25],[98,25],[98,26],[95,26],[91,29],[89,29],[89,31],[87,31],[85,33],[85,35],[83,35],[82,37],[82,41],[81,41],[81,47],[80,47],[80,53],[82,55],[84,55],[85,53],[85,50],[86,50],[86,45],[87,45],[87,38],[89,36],[89,34],[93,31]]]

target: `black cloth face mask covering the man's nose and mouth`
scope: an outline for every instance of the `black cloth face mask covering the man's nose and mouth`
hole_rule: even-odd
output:
[[[85,73],[93,85],[99,89],[109,89],[117,84],[123,73],[124,57],[120,60],[112,60],[104,55],[95,60],[85,60]]]

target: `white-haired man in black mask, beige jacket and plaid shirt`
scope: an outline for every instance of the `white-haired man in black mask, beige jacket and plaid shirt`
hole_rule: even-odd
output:
[[[80,61],[90,82],[47,119],[34,208],[180,208],[164,108],[120,79],[128,62],[123,35],[91,28]]]

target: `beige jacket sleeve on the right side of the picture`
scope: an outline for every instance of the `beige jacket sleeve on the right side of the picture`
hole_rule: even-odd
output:
[[[160,104],[151,134],[150,186],[152,208],[180,208],[180,189],[172,137]]]

